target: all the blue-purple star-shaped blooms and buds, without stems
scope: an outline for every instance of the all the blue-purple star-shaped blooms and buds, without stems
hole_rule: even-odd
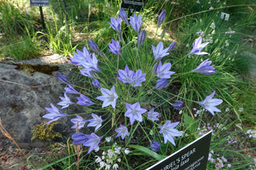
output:
[[[135,32],[138,33],[139,48],[145,39],[145,30],[141,31],[140,29],[142,26],[141,15],[137,16],[134,13],[133,17],[130,16],[129,22],[125,10],[122,9],[120,10],[120,16],[127,26],[131,26],[135,30]],[[166,11],[164,10],[159,15],[158,27],[164,21],[165,16]],[[116,30],[118,34],[121,34],[121,18],[119,18],[119,16],[117,16],[117,19],[111,17],[109,22],[110,26],[114,30]],[[90,49],[92,49],[95,53],[98,53],[99,55],[104,54],[98,49],[98,45],[92,40],[88,41],[88,44],[90,45]],[[208,43],[202,44],[202,38],[196,39],[193,44],[193,49],[190,51],[189,54],[208,54],[206,52],[201,52],[202,48],[204,48],[207,44]],[[112,43],[109,43],[108,45],[110,47],[109,50],[111,53],[122,55],[122,47],[120,46],[118,41],[115,42],[114,39],[112,39]],[[172,42],[167,48],[163,47],[162,42],[159,42],[156,47],[152,45],[154,62],[156,62],[152,67],[152,73],[153,75],[158,77],[154,89],[165,89],[169,84],[168,79],[170,79],[170,76],[175,73],[173,71],[170,71],[170,62],[162,64],[162,61],[160,61],[162,60],[163,57],[168,56],[170,53],[167,52],[173,50],[175,46],[176,42]],[[74,53],[74,57],[70,58],[70,63],[78,66],[80,68],[80,73],[83,76],[90,77],[93,79],[92,85],[94,85],[96,88],[99,88],[102,93],[102,96],[95,97],[95,99],[97,99],[98,101],[102,101],[102,108],[106,108],[107,106],[111,105],[112,108],[115,110],[117,105],[119,105],[119,107],[121,108],[124,108],[125,104],[126,112],[124,113],[124,117],[129,118],[130,125],[133,125],[134,121],[142,122],[143,117],[147,117],[148,120],[153,122],[160,121],[160,113],[155,112],[154,108],[150,109],[150,111],[147,111],[146,109],[142,108],[139,102],[135,102],[133,104],[124,101],[118,102],[118,93],[115,90],[115,85],[113,85],[111,89],[103,88],[102,85],[100,85],[100,81],[98,81],[96,77],[98,77],[97,73],[102,73],[102,71],[98,68],[98,59],[95,53],[90,53],[90,50],[86,49],[86,47],[84,47],[82,51],[77,49],[76,53]],[[192,71],[202,73],[204,75],[210,75],[212,73],[215,73],[214,65],[210,65],[211,61],[208,60],[209,59],[203,61],[200,65],[198,65],[196,69],[193,69]],[[68,87],[65,88],[66,91],[64,92],[64,97],[60,97],[62,101],[58,103],[58,105],[62,106],[62,109],[65,109],[70,105],[75,104],[73,101],[70,101],[70,98],[67,96],[67,93],[79,95],[79,97],[76,97],[78,100],[78,105],[88,107],[90,105],[94,105],[95,102],[97,102],[97,100],[91,101],[89,97],[86,97],[85,95],[79,93],[76,89],[74,89],[72,83],[65,76],[57,75],[56,77],[59,81],[68,85]],[[128,65],[126,65],[125,69],[118,69],[117,79],[119,81],[117,81],[116,83],[121,81],[124,84],[130,84],[132,87],[140,87],[142,86],[143,82],[146,81],[146,73],[143,73],[142,69],[137,69],[137,71],[135,72],[133,70],[130,70]],[[214,115],[214,112],[221,112],[215,106],[220,105],[222,103],[221,99],[213,99],[214,93],[212,93],[210,96],[207,96],[204,101],[197,102],[199,105],[202,105],[204,109],[207,109],[212,115]],[[44,118],[50,119],[50,121],[47,124],[53,121],[57,121],[61,117],[68,116],[68,114],[62,113],[61,109],[58,109],[53,104],[50,105],[51,108],[46,108],[46,110],[49,113],[43,116]],[[174,109],[181,110],[183,101],[176,101],[172,105]],[[147,116],[144,116],[145,113],[147,113]],[[97,132],[98,129],[102,127],[102,117],[99,117],[97,114],[94,113],[91,113],[91,117],[93,118],[89,120],[84,120],[81,116],[77,115],[76,118],[70,120],[74,124],[71,128],[81,129],[85,127],[86,123],[88,123],[87,127],[95,127],[94,132]],[[171,123],[167,120],[164,125],[159,125],[159,133],[162,134],[165,144],[167,143],[167,141],[170,141],[171,144],[175,145],[174,137],[182,136],[182,132],[179,132],[176,129],[179,123],[179,121]],[[117,132],[116,137],[121,136],[122,140],[124,140],[126,136],[130,136],[128,128],[122,124],[120,124],[120,126],[116,128],[114,131]],[[89,152],[91,152],[95,148],[98,148],[98,144],[102,140],[102,136],[97,136],[94,132],[92,132],[90,135],[83,134],[82,132],[74,133],[72,135],[72,139],[74,140],[73,144],[83,144],[84,146],[90,147]],[[159,150],[160,146],[161,144],[159,144],[157,141],[153,141],[150,143],[151,149],[155,152]]]

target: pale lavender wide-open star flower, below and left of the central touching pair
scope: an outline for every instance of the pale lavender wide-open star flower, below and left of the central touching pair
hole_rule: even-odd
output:
[[[114,85],[110,90],[101,88],[101,91],[102,91],[102,96],[96,97],[96,99],[103,101],[102,108],[105,108],[108,105],[112,105],[112,107],[115,109],[115,105],[118,99],[118,94],[115,93]]]

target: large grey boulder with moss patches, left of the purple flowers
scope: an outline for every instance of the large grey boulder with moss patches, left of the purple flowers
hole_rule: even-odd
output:
[[[0,117],[3,127],[21,148],[46,146],[45,142],[31,142],[32,129],[34,125],[49,121],[42,118],[47,113],[45,107],[50,107],[50,103],[58,107],[57,103],[61,101],[59,97],[63,97],[66,85],[61,84],[55,75],[59,73],[70,78],[76,69],[70,64],[52,63],[66,61],[65,57],[55,54],[30,61],[0,63]],[[47,69],[47,73],[43,69]],[[63,113],[82,111],[82,107],[77,105],[63,109]],[[74,133],[74,129],[70,129],[73,125],[70,117],[64,117],[60,121],[64,125],[57,125],[54,129],[56,132],[60,132],[62,136]]]

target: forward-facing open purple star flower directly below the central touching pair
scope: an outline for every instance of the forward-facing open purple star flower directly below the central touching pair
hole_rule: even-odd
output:
[[[142,109],[138,102],[133,105],[126,103],[126,109],[125,117],[130,118],[130,125],[133,125],[135,120],[142,122],[142,113],[146,113],[146,109]]]

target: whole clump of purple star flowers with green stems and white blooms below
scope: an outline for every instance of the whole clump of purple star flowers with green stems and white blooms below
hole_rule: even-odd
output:
[[[158,18],[158,27],[162,25],[165,17],[166,10],[163,10]],[[141,152],[145,151],[145,148],[150,148],[150,152],[153,153],[167,150],[170,145],[175,147],[176,144],[180,144],[176,141],[180,141],[184,135],[180,130],[186,128],[181,117],[170,117],[161,106],[162,103],[157,103],[161,98],[156,99],[161,97],[159,93],[167,91],[172,81],[178,78],[178,75],[171,71],[173,68],[168,58],[176,42],[172,42],[167,48],[164,48],[163,42],[159,42],[156,47],[151,45],[150,52],[146,55],[134,56],[133,50],[126,49],[130,44],[126,44],[122,39],[122,21],[132,28],[131,32],[137,33],[135,35],[138,44],[135,49],[138,53],[144,53],[141,49],[146,31],[141,30],[142,16],[134,13],[128,22],[126,11],[120,10],[120,17],[111,17],[109,22],[119,39],[111,39],[106,53],[90,40],[88,45],[95,53],[84,47],[82,51],[77,49],[70,58],[70,63],[78,67],[82,76],[86,77],[92,86],[78,90],[65,76],[58,75],[59,81],[68,85],[58,105],[62,106],[61,109],[66,109],[76,103],[85,107],[85,113],[62,113],[61,109],[50,104],[52,108],[46,108],[49,113],[43,116],[50,119],[48,124],[62,117],[71,117],[70,121],[74,125],[70,128],[76,128],[76,132],[71,135],[72,144],[82,144],[88,149],[88,153],[100,150],[102,156],[95,156],[93,160],[98,164],[98,168],[118,169],[126,166],[125,161],[121,159],[130,156],[130,152],[138,152],[136,149],[132,151],[132,148],[139,148]],[[201,37],[197,38],[189,54],[208,54],[201,52],[207,44],[202,43]],[[214,65],[210,65],[211,62],[208,59],[203,61],[196,69],[191,69],[190,73],[197,72],[210,76],[216,72]],[[70,101],[67,93],[79,95],[76,97],[78,101]],[[222,103],[221,99],[213,98],[214,94],[215,91],[204,101],[194,101],[208,110],[212,116],[214,112],[221,112],[215,106]],[[177,109],[180,113],[186,105],[186,98],[174,94],[172,101],[165,100],[164,103],[172,105],[174,110]],[[94,127],[94,131],[84,134],[83,129],[86,127]],[[106,141],[102,140],[104,138]],[[161,149],[162,147],[165,148]],[[150,155],[150,152],[146,153]]]

